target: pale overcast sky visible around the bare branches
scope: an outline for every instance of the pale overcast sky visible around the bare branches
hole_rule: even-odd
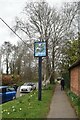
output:
[[[0,17],[10,26],[14,25],[15,17],[20,16],[28,0],[0,0]],[[34,0],[29,0],[34,1]],[[36,0],[38,1],[38,0]],[[61,6],[62,2],[75,2],[78,0],[46,0],[50,5]],[[15,44],[19,38],[11,34],[10,29],[0,20],[0,46],[4,41]]]

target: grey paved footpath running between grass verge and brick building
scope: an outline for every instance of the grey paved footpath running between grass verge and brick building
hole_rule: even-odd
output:
[[[61,91],[60,85],[55,88],[47,118],[77,118],[66,93]]]

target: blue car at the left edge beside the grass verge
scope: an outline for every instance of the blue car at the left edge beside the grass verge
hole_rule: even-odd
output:
[[[16,98],[14,88],[8,86],[0,86],[0,104]]]

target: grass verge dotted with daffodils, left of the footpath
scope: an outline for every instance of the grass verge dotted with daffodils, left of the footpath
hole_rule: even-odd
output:
[[[2,118],[46,118],[53,95],[54,85],[42,90],[42,100],[38,101],[38,91],[26,94],[2,105]],[[11,119],[10,119],[11,120]]]

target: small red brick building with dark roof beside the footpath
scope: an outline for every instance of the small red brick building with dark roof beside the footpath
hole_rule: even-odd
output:
[[[70,89],[80,96],[80,60],[75,62],[70,68]]]

